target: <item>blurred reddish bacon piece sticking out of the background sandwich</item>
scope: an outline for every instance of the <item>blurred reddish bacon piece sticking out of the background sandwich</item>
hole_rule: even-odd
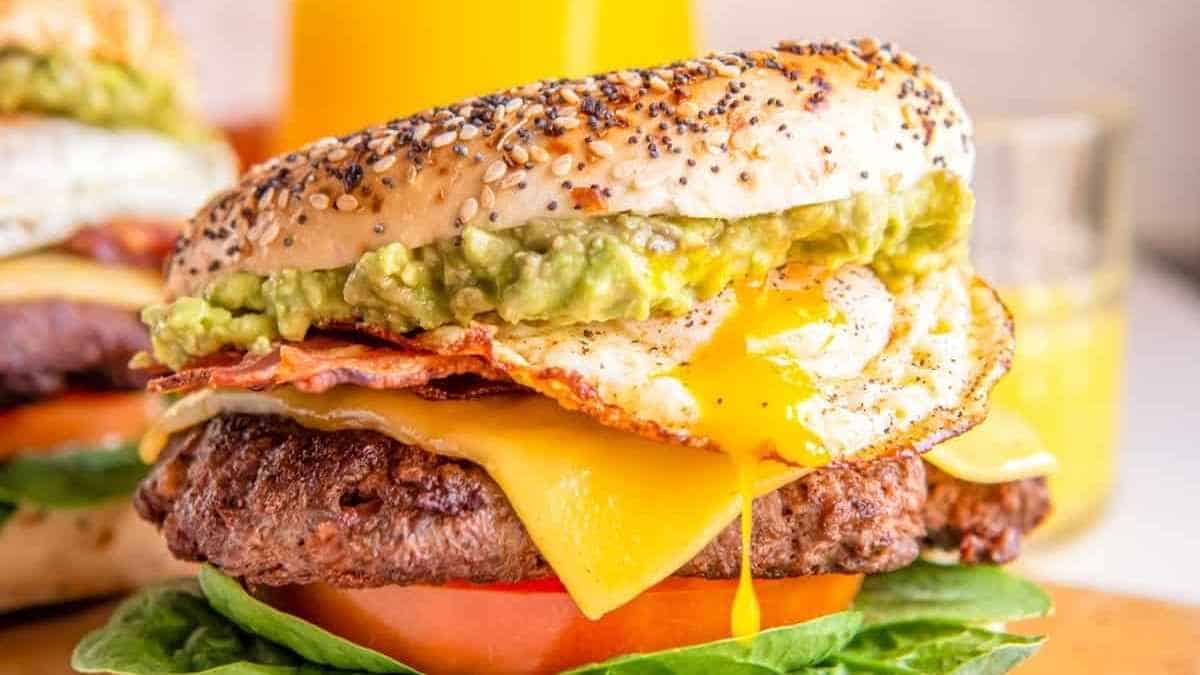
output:
[[[166,221],[119,220],[85,227],[62,250],[107,264],[158,270],[170,255],[179,226]]]

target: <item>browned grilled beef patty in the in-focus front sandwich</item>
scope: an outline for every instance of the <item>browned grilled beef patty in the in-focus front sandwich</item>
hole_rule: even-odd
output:
[[[217,417],[172,437],[136,506],[175,556],[256,584],[552,574],[481,467],[373,431]],[[967,485],[912,454],[827,467],[755,502],[754,574],[886,572],[929,543],[1003,562],[1046,510],[1040,479]],[[677,574],[732,578],[739,555],[734,522]]]

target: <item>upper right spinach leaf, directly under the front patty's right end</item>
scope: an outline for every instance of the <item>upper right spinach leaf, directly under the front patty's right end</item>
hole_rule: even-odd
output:
[[[868,625],[895,621],[1000,623],[1045,616],[1050,598],[1031,581],[989,566],[918,561],[870,575],[854,599]]]

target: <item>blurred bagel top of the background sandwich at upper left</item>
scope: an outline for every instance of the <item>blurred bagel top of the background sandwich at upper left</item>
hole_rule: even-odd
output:
[[[0,0],[0,48],[107,61],[193,98],[190,65],[157,0]]]

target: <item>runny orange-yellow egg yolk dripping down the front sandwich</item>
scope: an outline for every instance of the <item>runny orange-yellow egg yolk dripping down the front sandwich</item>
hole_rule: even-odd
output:
[[[731,611],[734,637],[752,638],[760,629],[758,602],[750,569],[752,501],[749,490],[755,464],[779,456],[802,466],[829,461],[821,441],[800,420],[797,406],[812,395],[808,374],[770,339],[815,321],[835,321],[820,281],[781,280],[736,287],[737,306],[710,341],[672,375],[698,406],[692,431],[727,453],[738,472],[742,496],[742,573]]]

